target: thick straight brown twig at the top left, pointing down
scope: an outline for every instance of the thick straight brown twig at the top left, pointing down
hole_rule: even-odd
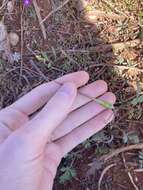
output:
[[[41,31],[42,31],[42,34],[43,34],[43,38],[44,38],[44,40],[46,40],[47,39],[46,29],[45,29],[44,23],[42,22],[42,17],[41,17],[41,14],[40,14],[40,8],[39,8],[36,0],[33,0],[33,6],[34,6],[35,12],[37,14],[37,18],[38,18],[38,21],[39,21],[39,24],[40,24],[40,28],[41,28]]]

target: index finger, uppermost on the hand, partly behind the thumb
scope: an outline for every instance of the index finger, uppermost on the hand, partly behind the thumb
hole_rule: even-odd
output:
[[[74,83],[75,86],[81,87],[87,83],[89,80],[89,75],[84,72],[76,72],[72,74],[65,75],[57,80],[58,83],[66,83],[71,82]],[[47,101],[55,94],[55,92],[60,88],[60,84],[54,81],[42,84],[20,98],[14,104],[12,104],[11,108],[16,108],[21,112],[30,115],[41,108]]]

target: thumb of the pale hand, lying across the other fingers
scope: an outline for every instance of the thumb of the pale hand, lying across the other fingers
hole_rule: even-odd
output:
[[[69,113],[76,93],[75,84],[64,84],[35,118],[26,123],[20,130],[21,133],[25,134],[27,138],[29,137],[30,141],[38,140],[40,145],[47,143],[52,131]]]

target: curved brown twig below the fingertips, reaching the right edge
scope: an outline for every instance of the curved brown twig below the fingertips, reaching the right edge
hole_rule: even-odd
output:
[[[135,145],[129,145],[126,147],[122,147],[122,148],[118,148],[114,151],[112,151],[111,153],[107,154],[107,155],[103,155],[100,158],[100,161],[108,161],[109,159],[111,159],[114,156],[117,156],[118,154],[122,153],[122,152],[126,152],[129,150],[139,150],[139,149],[143,149],[143,143],[139,143],[139,144],[135,144]]]

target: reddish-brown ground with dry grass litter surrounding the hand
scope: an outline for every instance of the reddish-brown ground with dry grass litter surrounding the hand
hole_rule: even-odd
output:
[[[73,71],[86,70],[91,81],[107,81],[109,90],[117,96],[116,118],[105,129],[108,143],[91,140],[88,148],[85,143],[73,150],[59,167],[54,190],[98,189],[102,171],[112,163],[116,166],[106,172],[101,190],[142,190],[143,168],[138,150],[113,157],[101,167],[97,167],[97,160],[117,148],[143,142],[143,103],[132,103],[143,92],[143,2],[81,1],[86,5],[71,0],[44,22],[46,40],[32,3],[24,8],[21,1],[15,1],[12,13],[6,6],[0,10],[8,32],[20,37],[11,50],[21,55],[13,63],[0,59],[0,107],[43,82]],[[62,2],[37,0],[42,18]],[[126,140],[130,133],[136,138],[134,135],[133,140]],[[77,176],[60,184],[63,166],[72,166]]]

